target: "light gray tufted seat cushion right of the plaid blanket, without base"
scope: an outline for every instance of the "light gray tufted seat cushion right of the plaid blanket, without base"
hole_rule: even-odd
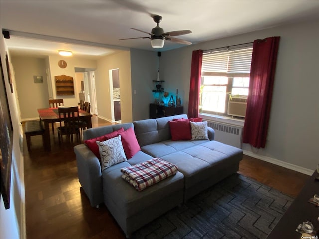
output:
[[[223,168],[242,159],[242,150],[217,141],[208,141],[162,157],[184,174],[185,188],[209,179]]]

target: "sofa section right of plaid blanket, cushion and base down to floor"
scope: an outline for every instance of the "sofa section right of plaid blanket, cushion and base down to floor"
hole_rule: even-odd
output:
[[[238,171],[242,150],[207,141],[162,157],[184,175],[184,201]]]

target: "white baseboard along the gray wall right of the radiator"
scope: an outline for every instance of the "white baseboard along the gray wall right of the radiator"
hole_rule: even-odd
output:
[[[253,152],[250,152],[247,150],[243,150],[243,151],[244,151],[244,154],[247,156],[257,158],[257,159],[263,160],[265,162],[269,162],[269,163],[272,163],[272,164],[275,164],[275,165],[278,165],[278,166],[281,166],[284,168],[288,168],[288,169],[294,170],[296,172],[300,172],[300,173],[303,173],[306,175],[312,175],[314,173],[314,170],[311,170],[308,168],[303,168],[303,167],[297,166],[295,164],[291,164],[291,163],[287,163],[287,162],[284,162],[284,161],[281,161],[281,160],[278,160],[275,158],[259,155],[259,154],[256,154],[256,153],[253,153]]]

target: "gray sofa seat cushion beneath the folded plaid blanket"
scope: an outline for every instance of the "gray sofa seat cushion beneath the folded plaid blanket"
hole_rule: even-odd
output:
[[[177,172],[175,175],[138,192],[121,177],[120,168],[128,166],[130,164],[126,161],[112,166],[114,167],[113,170],[110,167],[102,172],[104,198],[108,197],[108,200],[112,200],[126,218],[151,205],[156,205],[162,198],[169,195],[176,194],[176,197],[180,197],[179,200],[182,202],[183,195],[181,192],[184,187],[182,173]]]

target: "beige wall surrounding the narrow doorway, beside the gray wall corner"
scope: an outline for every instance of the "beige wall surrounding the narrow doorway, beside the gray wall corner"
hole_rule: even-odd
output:
[[[97,60],[95,88],[99,117],[111,121],[111,102],[109,70],[119,68],[121,120],[132,122],[132,90],[130,51],[123,51]]]

